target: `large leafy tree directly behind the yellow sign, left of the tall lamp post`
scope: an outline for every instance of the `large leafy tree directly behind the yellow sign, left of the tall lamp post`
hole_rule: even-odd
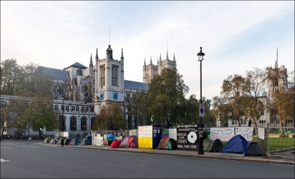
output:
[[[154,124],[172,127],[185,111],[185,94],[189,87],[175,68],[165,68],[161,75],[153,77],[148,90],[148,111],[154,116]]]

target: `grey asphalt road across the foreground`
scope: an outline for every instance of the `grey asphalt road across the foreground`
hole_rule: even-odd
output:
[[[1,142],[1,178],[294,178],[294,165],[49,147],[32,142]]]

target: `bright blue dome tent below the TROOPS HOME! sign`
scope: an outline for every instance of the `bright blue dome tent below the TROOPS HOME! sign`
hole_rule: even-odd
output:
[[[223,153],[245,153],[248,142],[241,135],[232,137],[228,143],[222,148]]]

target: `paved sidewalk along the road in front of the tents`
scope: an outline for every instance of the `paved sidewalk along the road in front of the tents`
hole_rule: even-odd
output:
[[[149,149],[149,148],[109,148],[109,146],[92,146],[92,145],[82,145],[82,146],[61,146],[50,143],[35,143],[42,144],[45,146],[54,146],[54,147],[63,147],[63,148],[84,148],[92,150],[111,150],[111,151],[120,151],[128,153],[148,153],[155,155],[176,155],[176,156],[186,156],[186,157],[200,157],[200,158],[209,158],[209,159],[230,159],[230,160],[239,160],[239,161],[248,161],[248,162],[263,162],[270,164],[290,164],[295,165],[294,162],[294,148],[288,148],[285,150],[276,150],[275,152],[271,151],[269,156],[248,156],[245,157],[243,154],[238,153],[207,153],[204,152],[204,155],[198,155],[197,151],[190,150],[161,150],[161,149]]]

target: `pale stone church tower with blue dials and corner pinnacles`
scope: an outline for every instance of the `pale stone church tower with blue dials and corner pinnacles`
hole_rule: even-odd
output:
[[[95,113],[105,104],[116,101],[125,105],[124,57],[123,49],[120,61],[113,59],[111,45],[106,49],[106,58],[99,59],[96,49],[95,56]]]

